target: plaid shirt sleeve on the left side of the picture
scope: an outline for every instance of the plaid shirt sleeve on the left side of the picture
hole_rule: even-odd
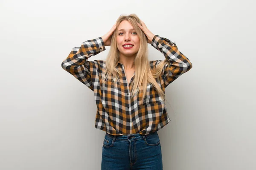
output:
[[[80,47],[72,49],[68,57],[61,63],[61,67],[93,90],[92,79],[95,78],[100,65],[96,60],[88,61],[87,59],[104,50],[102,37],[87,40]]]

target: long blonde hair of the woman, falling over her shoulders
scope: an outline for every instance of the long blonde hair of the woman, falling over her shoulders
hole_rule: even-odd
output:
[[[117,37],[117,28],[119,27],[119,24],[123,21],[127,20],[131,23],[131,25],[134,27],[135,32],[140,38],[140,49],[137,52],[137,55],[134,59],[134,65],[135,65],[135,77],[134,81],[132,81],[132,91],[131,96],[135,95],[135,91],[140,93],[143,91],[142,100],[144,99],[146,95],[146,88],[147,83],[151,83],[154,88],[156,88],[158,94],[160,94],[161,98],[165,100],[165,94],[160,88],[160,85],[157,84],[156,79],[160,77],[160,74],[163,70],[163,66],[166,65],[168,60],[163,60],[160,62],[154,70],[151,69],[150,63],[148,61],[148,42],[147,37],[144,34],[144,32],[140,29],[139,26],[137,26],[137,23],[141,25],[140,18],[136,14],[130,14],[130,15],[120,15],[120,17],[116,20],[116,30],[113,32],[112,38],[111,38],[111,47],[110,51],[108,53],[108,56],[106,58],[106,75],[105,79],[102,81],[106,81],[108,77],[111,76],[110,79],[112,79],[112,84],[114,83],[115,79],[119,82],[119,76],[122,77],[122,71],[119,71],[116,68],[116,65],[119,61],[119,50],[117,48],[116,44],[116,37]]]

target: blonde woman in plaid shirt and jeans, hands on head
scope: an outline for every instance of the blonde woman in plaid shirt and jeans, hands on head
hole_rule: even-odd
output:
[[[166,59],[148,61],[148,43]],[[87,60],[109,45],[106,61]],[[106,132],[102,170],[162,170],[157,131],[170,122],[165,88],[192,68],[177,45],[136,14],[122,15],[107,34],[73,48],[61,66],[94,92],[95,127]]]

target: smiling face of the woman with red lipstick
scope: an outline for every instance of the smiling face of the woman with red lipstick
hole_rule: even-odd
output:
[[[134,57],[139,51],[140,38],[129,21],[122,21],[117,28],[116,43],[122,56]]]

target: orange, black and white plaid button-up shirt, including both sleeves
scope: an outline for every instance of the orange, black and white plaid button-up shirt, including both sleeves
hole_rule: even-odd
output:
[[[151,45],[169,60],[169,64],[163,67],[160,77],[157,78],[157,83],[164,91],[171,82],[189,71],[192,64],[178,51],[175,42],[155,35]],[[130,83],[127,82],[124,65],[121,62],[116,64],[116,68],[122,71],[120,83],[115,82],[116,84],[111,86],[110,82],[106,81],[101,84],[100,80],[105,75],[105,61],[88,61],[87,59],[102,51],[105,51],[102,37],[87,40],[82,43],[81,47],[73,48],[69,56],[61,63],[64,70],[94,92],[97,105],[95,127],[111,135],[134,133],[147,135],[167,125],[170,119],[166,112],[165,100],[161,99],[160,94],[150,83],[147,84],[143,101],[139,100],[142,99],[142,93],[131,97],[131,82],[134,81],[134,76]],[[156,68],[160,61],[150,61],[151,68]]]

